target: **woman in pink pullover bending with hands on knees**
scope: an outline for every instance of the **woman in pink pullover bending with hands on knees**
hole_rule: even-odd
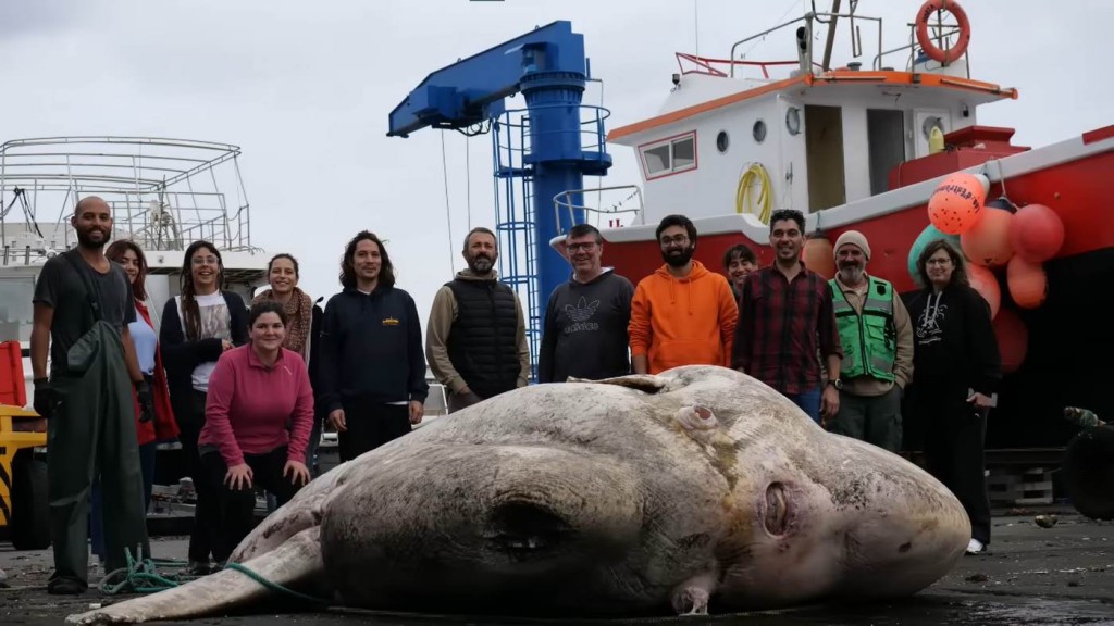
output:
[[[221,567],[254,526],[256,485],[282,506],[310,480],[313,390],[302,358],[282,346],[286,313],[276,302],[260,302],[247,314],[247,327],[250,342],[222,354],[213,370],[197,441],[218,495],[211,532]]]

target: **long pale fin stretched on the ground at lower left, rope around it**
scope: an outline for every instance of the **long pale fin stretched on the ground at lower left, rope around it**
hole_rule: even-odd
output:
[[[314,526],[281,546],[255,557],[244,567],[287,588],[302,588],[321,577],[320,528]],[[185,585],[111,606],[70,615],[68,624],[139,624],[222,614],[276,594],[235,569],[222,569]]]

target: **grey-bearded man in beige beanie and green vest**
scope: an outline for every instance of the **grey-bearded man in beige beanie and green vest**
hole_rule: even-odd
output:
[[[870,245],[858,231],[836,239],[829,281],[843,345],[839,412],[829,430],[897,452],[901,395],[912,375],[912,323],[889,282],[867,274]]]

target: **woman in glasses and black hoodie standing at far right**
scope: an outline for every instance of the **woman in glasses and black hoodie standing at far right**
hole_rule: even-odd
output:
[[[968,554],[990,542],[984,440],[991,397],[1001,378],[990,306],[967,278],[964,257],[944,239],[917,262],[925,290],[909,303],[913,381],[908,407],[925,429],[928,470],[948,487],[971,521]]]

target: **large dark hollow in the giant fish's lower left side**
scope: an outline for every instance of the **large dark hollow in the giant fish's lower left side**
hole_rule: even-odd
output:
[[[573,536],[573,527],[561,516],[524,501],[496,507],[483,531],[489,550],[516,560],[550,556]]]

